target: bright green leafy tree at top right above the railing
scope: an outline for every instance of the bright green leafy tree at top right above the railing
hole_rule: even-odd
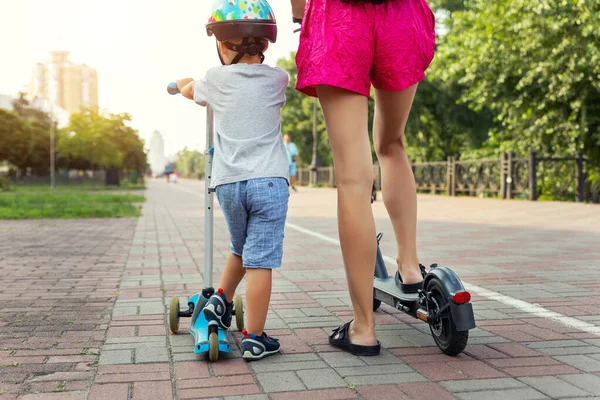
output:
[[[500,151],[600,160],[600,3],[469,0],[452,13],[437,78],[458,81],[474,110],[501,124]]]

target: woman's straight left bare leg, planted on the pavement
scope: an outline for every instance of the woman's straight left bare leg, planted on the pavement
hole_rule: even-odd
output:
[[[354,344],[375,345],[373,273],[377,240],[371,210],[373,160],[368,135],[368,99],[331,86],[318,86],[317,92],[335,165],[338,227],[354,309],[350,337]]]

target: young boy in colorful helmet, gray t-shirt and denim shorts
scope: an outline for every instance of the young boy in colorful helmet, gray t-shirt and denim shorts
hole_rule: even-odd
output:
[[[206,28],[216,36],[223,66],[210,69],[204,79],[177,82],[183,96],[214,111],[210,187],[216,188],[231,238],[220,287],[203,312],[228,329],[234,292],[247,275],[242,357],[256,360],[280,347],[264,326],[272,270],[281,266],[283,256],[289,198],[288,156],[280,125],[289,77],[280,68],[262,64],[268,42],[277,37],[266,0],[246,0],[243,7],[232,0],[217,1]]]

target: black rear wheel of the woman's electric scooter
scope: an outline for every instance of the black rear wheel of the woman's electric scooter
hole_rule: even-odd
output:
[[[442,308],[448,303],[449,300],[444,296],[442,284],[438,279],[430,280],[425,290],[431,293],[432,302],[436,304],[435,307]],[[458,332],[456,330],[450,308],[445,309],[437,321],[430,323],[429,329],[435,344],[444,354],[457,356],[467,347],[469,331]]]

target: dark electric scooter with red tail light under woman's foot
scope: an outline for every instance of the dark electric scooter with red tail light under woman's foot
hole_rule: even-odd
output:
[[[377,260],[373,284],[373,311],[381,302],[429,324],[433,340],[447,355],[460,354],[469,340],[469,330],[475,328],[471,294],[458,276],[447,267],[433,264],[429,271],[422,265],[423,288],[417,293],[404,293],[394,277],[388,275],[377,236]]]

